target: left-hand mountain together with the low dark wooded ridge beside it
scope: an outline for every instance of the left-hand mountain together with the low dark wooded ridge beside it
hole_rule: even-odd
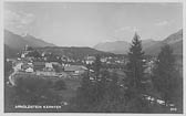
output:
[[[113,54],[107,52],[102,52],[92,48],[78,48],[78,46],[56,46],[52,43],[48,43],[43,40],[37,39],[30,34],[24,36],[14,34],[8,30],[4,30],[4,55],[7,57],[16,57],[17,53],[20,52],[25,45],[35,48],[40,52],[50,52],[58,55],[66,55],[70,57],[82,57],[85,55],[95,54]]]

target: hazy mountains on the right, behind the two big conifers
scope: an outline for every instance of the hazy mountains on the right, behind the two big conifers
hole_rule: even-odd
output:
[[[164,44],[169,44],[174,54],[183,54],[183,29],[168,35],[163,41],[154,41],[152,39],[142,40],[143,51],[148,55],[157,55]],[[131,44],[126,41],[114,41],[99,43],[94,49],[116,54],[127,54],[130,46]]]

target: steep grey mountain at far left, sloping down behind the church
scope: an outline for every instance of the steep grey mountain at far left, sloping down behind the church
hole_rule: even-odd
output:
[[[17,53],[21,51],[25,45],[29,45],[32,48],[55,46],[52,43],[48,43],[30,34],[21,36],[21,35],[14,34],[9,30],[4,30],[4,55],[7,57],[16,56]]]

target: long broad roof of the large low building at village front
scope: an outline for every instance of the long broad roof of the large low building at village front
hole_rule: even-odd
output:
[[[73,71],[82,71],[82,70],[87,70],[83,65],[70,65],[70,66],[64,66],[64,71],[73,72]]]

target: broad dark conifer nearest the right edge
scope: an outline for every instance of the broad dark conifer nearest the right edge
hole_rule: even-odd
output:
[[[153,73],[154,87],[162,94],[165,103],[182,96],[182,78],[175,68],[175,57],[168,44],[162,48]]]

